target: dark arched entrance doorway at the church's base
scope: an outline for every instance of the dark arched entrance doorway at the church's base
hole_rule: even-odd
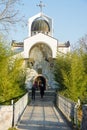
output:
[[[45,77],[44,77],[43,75],[38,75],[38,76],[35,78],[34,82],[37,83],[37,89],[38,89],[38,90],[40,89],[40,88],[39,88],[39,84],[40,84],[40,83],[42,83],[42,84],[44,85],[44,90],[46,90],[46,79],[45,79]]]

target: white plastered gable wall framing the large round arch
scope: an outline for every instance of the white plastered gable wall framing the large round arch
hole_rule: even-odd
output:
[[[24,40],[24,58],[29,58],[30,49],[32,48],[32,46],[39,42],[47,44],[52,50],[52,58],[56,58],[57,40],[42,33],[39,33]]]

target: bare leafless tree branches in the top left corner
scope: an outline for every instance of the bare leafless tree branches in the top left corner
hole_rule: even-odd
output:
[[[0,31],[8,31],[10,25],[21,20],[17,4],[20,0],[0,0]]]

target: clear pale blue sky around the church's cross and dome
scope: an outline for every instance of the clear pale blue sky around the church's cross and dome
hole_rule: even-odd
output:
[[[75,44],[87,34],[87,0],[42,0],[43,13],[53,19],[54,38],[60,42]],[[40,0],[21,0],[20,14],[28,19],[40,12],[36,6]],[[23,41],[28,37],[28,26],[16,26],[10,32],[10,40]]]

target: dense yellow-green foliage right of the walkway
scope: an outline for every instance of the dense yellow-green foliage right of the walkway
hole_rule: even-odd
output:
[[[87,99],[87,54],[75,50],[65,56],[58,56],[55,65],[56,80],[62,86],[61,93],[77,101]]]

